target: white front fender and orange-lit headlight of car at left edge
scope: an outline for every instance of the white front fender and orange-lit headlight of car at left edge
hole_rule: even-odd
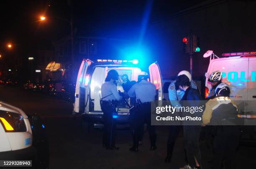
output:
[[[0,102],[0,160],[32,159],[32,129],[19,108]]]

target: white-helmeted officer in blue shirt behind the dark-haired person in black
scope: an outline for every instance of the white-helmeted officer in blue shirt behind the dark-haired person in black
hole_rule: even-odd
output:
[[[181,72],[179,72],[178,76],[180,76],[180,75],[186,75],[189,78],[189,81],[191,83],[191,87],[193,89],[197,89],[197,85],[192,80],[191,74],[188,71],[182,70]],[[168,88],[169,100],[170,100],[172,106],[177,105],[179,107],[179,106],[181,106],[180,103],[179,103],[179,100],[182,99],[185,92],[183,90],[180,90],[180,89],[176,90],[175,89],[175,82],[176,82],[176,80],[174,80],[169,85],[169,88]],[[175,144],[175,141],[176,141],[181,129],[182,129],[181,125],[171,125],[169,127],[169,137],[168,137],[168,142],[167,142],[167,156],[166,156],[166,159],[165,159],[166,163],[169,163],[172,160],[172,152],[173,152],[173,149],[174,149],[174,144]],[[185,160],[187,161],[187,157],[185,157]]]

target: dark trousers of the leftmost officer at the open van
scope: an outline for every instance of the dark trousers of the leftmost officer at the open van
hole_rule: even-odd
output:
[[[113,118],[114,108],[108,102],[102,103],[104,118],[102,144],[108,147],[115,147],[116,119]]]

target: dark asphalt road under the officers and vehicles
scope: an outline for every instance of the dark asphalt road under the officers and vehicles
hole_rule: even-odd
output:
[[[81,118],[73,117],[72,103],[57,100],[44,94],[24,90],[20,87],[0,86],[0,100],[23,109],[27,114],[39,114],[46,126],[49,140],[50,169],[178,169],[185,164],[182,137],[177,139],[172,162],[164,163],[168,127],[157,127],[157,147],[149,150],[148,134],[138,153],[129,152],[132,145],[129,129],[118,129],[118,151],[101,147],[102,131],[92,129],[81,132]],[[209,169],[212,150],[201,141],[204,169]],[[234,162],[237,168],[254,169],[256,147],[239,147]]]

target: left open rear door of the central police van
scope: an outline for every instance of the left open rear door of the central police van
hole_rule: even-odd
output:
[[[81,94],[80,87],[82,85],[82,78],[84,77],[84,74],[87,72],[87,69],[88,69],[88,67],[90,66],[91,63],[92,63],[91,60],[83,59],[81,65],[80,65],[80,68],[79,68],[79,71],[78,71],[78,74],[77,74],[77,83],[76,83],[76,90],[75,90],[75,102],[74,102],[73,114],[76,114],[76,113],[79,113],[79,112],[81,113],[82,110],[80,109],[80,107],[81,106],[84,107],[84,105],[80,105],[82,103],[80,100],[82,99],[81,95],[85,95],[85,93]],[[85,92],[85,91],[83,90],[83,92]]]

